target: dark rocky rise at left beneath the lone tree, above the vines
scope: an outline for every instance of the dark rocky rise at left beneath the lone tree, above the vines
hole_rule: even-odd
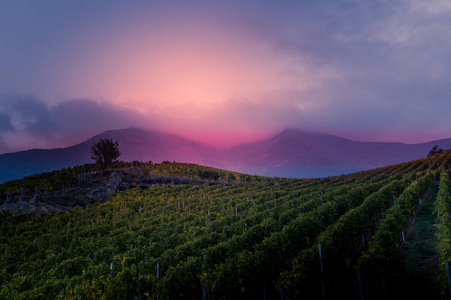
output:
[[[0,209],[12,213],[49,213],[105,201],[111,194],[133,187],[234,184],[255,180],[269,179],[167,161],[161,164],[120,161],[113,163],[105,173],[95,164],[85,164],[0,184]]]

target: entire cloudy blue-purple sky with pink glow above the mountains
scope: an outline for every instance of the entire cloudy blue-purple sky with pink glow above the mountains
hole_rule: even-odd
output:
[[[451,137],[451,2],[0,0],[0,153],[139,127]]]

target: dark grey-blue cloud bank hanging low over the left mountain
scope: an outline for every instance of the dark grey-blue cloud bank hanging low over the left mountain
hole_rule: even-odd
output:
[[[63,147],[105,130],[147,127],[149,123],[135,111],[93,100],[68,100],[49,106],[33,96],[0,96],[0,131],[14,132],[8,139],[11,144],[22,139],[29,141],[29,147],[33,143]],[[0,148],[7,148],[3,146]]]

